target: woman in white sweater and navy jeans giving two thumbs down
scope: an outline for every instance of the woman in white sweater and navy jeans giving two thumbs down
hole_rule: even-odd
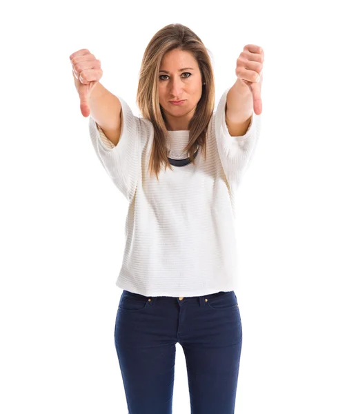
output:
[[[129,203],[115,324],[129,413],[172,413],[177,342],[191,412],[234,413],[242,343],[235,192],[259,137],[263,52],[244,48],[237,81],[213,112],[201,39],[181,24],[162,28],[141,63],[142,117],[101,86],[88,50],[70,60],[92,145]]]

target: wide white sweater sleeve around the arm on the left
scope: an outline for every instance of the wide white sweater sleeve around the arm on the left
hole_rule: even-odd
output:
[[[132,114],[126,101],[121,102],[121,136],[117,146],[103,133],[101,127],[91,116],[89,118],[89,134],[92,146],[103,168],[112,182],[132,200],[139,179],[141,164],[141,137],[139,136],[139,117]]]

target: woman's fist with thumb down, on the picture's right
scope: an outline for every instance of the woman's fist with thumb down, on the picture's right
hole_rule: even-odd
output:
[[[264,51],[260,46],[246,45],[237,59],[237,81],[247,85],[252,92],[253,109],[261,114],[261,83],[263,82]]]

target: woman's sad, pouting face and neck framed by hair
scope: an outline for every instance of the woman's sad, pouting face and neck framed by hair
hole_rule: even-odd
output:
[[[188,130],[188,123],[202,94],[199,65],[190,53],[179,49],[164,55],[159,68],[159,103],[168,130]],[[171,101],[184,100],[180,105]]]

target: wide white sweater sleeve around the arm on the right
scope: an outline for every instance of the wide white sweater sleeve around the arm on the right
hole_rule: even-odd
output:
[[[229,89],[228,89],[229,90]],[[230,188],[237,189],[247,170],[260,135],[261,115],[253,111],[250,126],[244,135],[232,137],[226,125],[226,97],[224,92],[215,113],[215,136],[219,158]]]

